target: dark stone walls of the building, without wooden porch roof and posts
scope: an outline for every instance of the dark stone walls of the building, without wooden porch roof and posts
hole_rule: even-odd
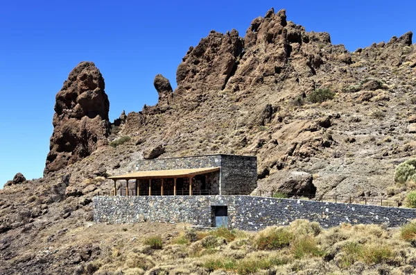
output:
[[[209,190],[210,194],[250,194],[257,188],[257,158],[254,156],[209,155],[140,160],[137,162],[137,171],[208,167],[220,167],[220,171],[207,174],[205,183],[198,176],[193,178],[192,190],[195,190],[195,194],[198,194],[198,190]],[[171,184],[173,184],[173,180],[172,183],[168,180],[166,190],[170,190],[168,188]],[[188,178],[180,179],[178,184],[184,186],[184,192],[188,192]],[[159,181],[155,181],[155,187],[152,188],[159,190],[160,185]],[[148,181],[139,181],[139,187],[140,190],[146,192]],[[171,190],[173,190],[173,187]],[[181,188],[177,192],[177,194],[181,194]]]

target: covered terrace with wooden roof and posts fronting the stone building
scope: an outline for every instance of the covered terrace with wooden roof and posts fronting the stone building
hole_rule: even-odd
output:
[[[207,175],[219,170],[220,167],[150,170],[109,178],[114,181],[114,196],[117,194],[117,181],[121,181],[120,195],[123,195],[122,182],[125,181],[126,196],[210,194],[213,190],[207,188]],[[196,184],[196,178],[200,184]],[[129,181],[132,180],[135,181],[134,189],[129,188]],[[192,185],[196,190],[193,191]]]

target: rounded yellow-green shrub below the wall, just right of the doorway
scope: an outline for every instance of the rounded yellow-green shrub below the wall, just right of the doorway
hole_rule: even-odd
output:
[[[293,233],[287,228],[272,226],[257,234],[254,238],[254,245],[261,250],[280,249],[288,247],[292,240]]]

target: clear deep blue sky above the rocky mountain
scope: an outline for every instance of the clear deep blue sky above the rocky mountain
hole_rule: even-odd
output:
[[[156,74],[175,87],[181,58],[209,31],[244,36],[271,7],[350,51],[416,31],[410,0],[144,2],[1,1],[0,188],[17,172],[42,176],[55,94],[80,61],[101,70],[113,120],[157,102]]]

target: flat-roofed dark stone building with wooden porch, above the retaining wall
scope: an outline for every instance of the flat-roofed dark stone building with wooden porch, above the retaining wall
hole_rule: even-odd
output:
[[[135,169],[130,174],[109,177],[114,181],[114,194],[248,195],[257,188],[255,156],[218,154],[139,160]]]

